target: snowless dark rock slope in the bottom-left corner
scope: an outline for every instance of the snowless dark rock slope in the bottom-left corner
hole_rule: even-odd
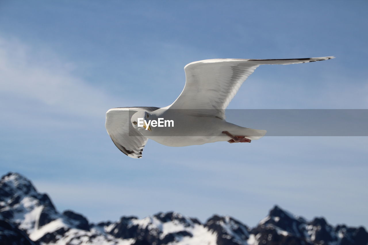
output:
[[[0,245],[38,245],[14,224],[0,220]]]

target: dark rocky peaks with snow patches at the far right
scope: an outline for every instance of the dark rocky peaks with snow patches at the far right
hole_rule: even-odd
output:
[[[251,230],[259,244],[284,245],[356,245],[368,243],[368,233],[363,227],[333,228],[323,217],[308,222],[301,217],[275,206],[267,219]]]

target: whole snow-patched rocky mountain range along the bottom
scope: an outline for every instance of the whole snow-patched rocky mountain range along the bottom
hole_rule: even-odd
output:
[[[17,173],[0,180],[0,245],[367,245],[363,227],[307,221],[278,206],[257,227],[229,216],[206,223],[179,213],[121,217],[91,224],[71,210],[59,213],[49,196]]]

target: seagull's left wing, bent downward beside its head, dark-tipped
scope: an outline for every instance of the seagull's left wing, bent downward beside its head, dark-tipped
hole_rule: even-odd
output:
[[[106,112],[105,127],[114,144],[125,155],[139,158],[148,138],[133,128],[130,118],[137,111],[155,111],[159,107],[118,107]]]

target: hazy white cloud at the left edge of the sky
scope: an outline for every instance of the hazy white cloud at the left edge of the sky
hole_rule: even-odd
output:
[[[1,103],[13,108],[32,103],[50,111],[93,117],[116,104],[105,91],[73,75],[74,69],[50,50],[27,46],[16,38],[0,38]]]

